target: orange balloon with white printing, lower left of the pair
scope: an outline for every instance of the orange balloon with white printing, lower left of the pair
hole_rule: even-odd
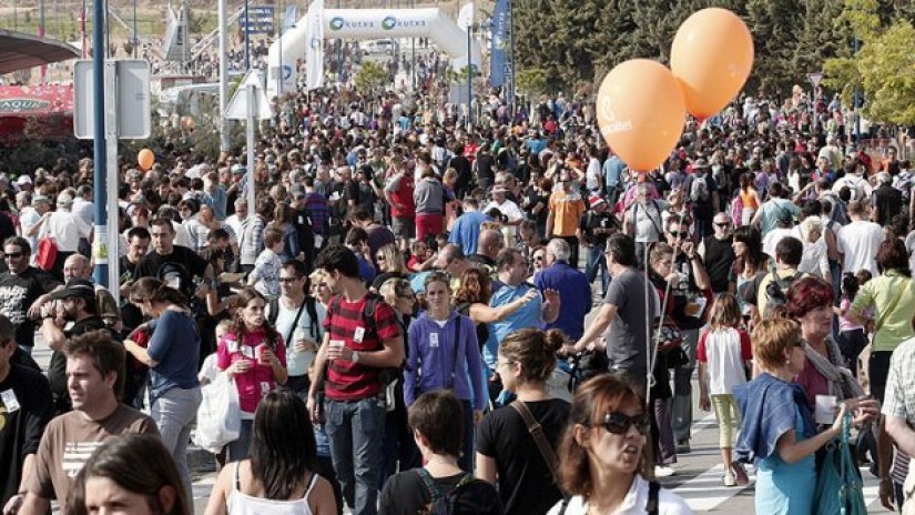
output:
[[[630,169],[658,168],[680,141],[687,108],[670,70],[648,59],[620,63],[598,90],[600,132]]]

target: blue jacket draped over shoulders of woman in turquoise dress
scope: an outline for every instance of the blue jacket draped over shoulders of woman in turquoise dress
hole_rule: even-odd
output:
[[[743,415],[734,447],[741,462],[759,463],[774,454],[779,438],[794,428],[795,408],[803,421],[803,435],[797,440],[816,434],[804,388],[797,383],[785,383],[763,373],[749,383],[734,386],[734,397]]]

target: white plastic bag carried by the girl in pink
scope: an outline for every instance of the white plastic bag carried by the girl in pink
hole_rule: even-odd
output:
[[[235,381],[225,373],[201,387],[203,400],[197,408],[197,430],[194,443],[211,453],[218,453],[235,441],[242,431],[242,408]]]

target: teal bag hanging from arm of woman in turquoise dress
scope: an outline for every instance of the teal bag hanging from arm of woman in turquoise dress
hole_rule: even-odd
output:
[[[826,444],[816,477],[816,515],[865,515],[863,482],[848,447],[852,415],[842,420],[842,434]]]

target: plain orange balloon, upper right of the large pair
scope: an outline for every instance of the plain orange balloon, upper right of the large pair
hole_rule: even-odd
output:
[[[683,90],[687,110],[705,120],[728,105],[750,77],[750,29],[728,9],[695,12],[673,38],[670,69]]]

